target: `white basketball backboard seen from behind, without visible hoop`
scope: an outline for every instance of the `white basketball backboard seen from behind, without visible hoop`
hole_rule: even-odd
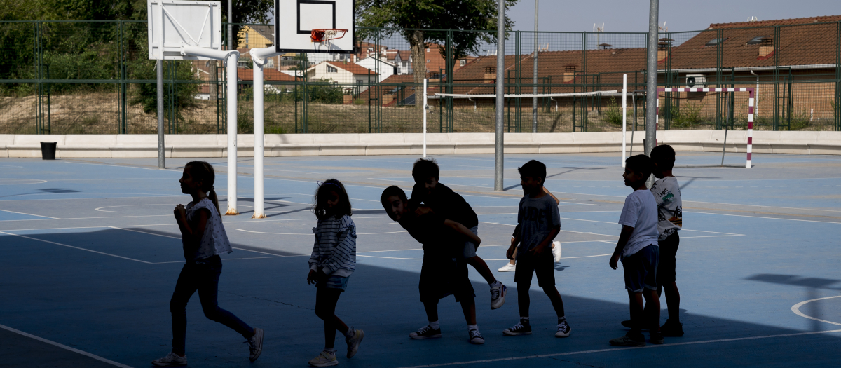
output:
[[[149,27],[149,59],[207,60],[181,55],[181,46],[222,48],[220,2],[146,0]]]

